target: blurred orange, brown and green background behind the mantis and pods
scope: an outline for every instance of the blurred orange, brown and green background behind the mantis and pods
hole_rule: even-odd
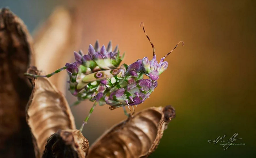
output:
[[[8,6],[32,35],[59,5],[78,6],[83,29],[77,50],[86,52],[96,39],[105,45],[111,39],[114,45],[119,44],[121,52],[126,52],[124,63],[131,64],[144,56],[151,58],[152,48],[139,27],[141,21],[156,47],[158,60],[178,41],[185,42],[166,58],[169,67],[161,74],[155,92],[135,108],[140,111],[172,105],[176,109],[176,118],[150,157],[256,156],[255,2],[0,1],[0,7]],[[68,91],[65,95],[70,104],[76,100]],[[71,108],[78,128],[91,106],[85,101]],[[83,133],[92,144],[123,119],[122,109],[96,107]],[[223,150],[221,145],[208,143],[225,134],[227,141],[235,133],[239,133],[236,138],[242,138],[236,142],[246,145]]]

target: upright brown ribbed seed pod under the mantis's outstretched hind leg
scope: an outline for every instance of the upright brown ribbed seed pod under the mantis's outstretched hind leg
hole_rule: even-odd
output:
[[[36,67],[29,73],[39,74]],[[69,105],[47,78],[32,79],[34,86],[27,106],[27,123],[34,138],[36,157],[41,157],[47,138],[59,129],[76,129]]]

